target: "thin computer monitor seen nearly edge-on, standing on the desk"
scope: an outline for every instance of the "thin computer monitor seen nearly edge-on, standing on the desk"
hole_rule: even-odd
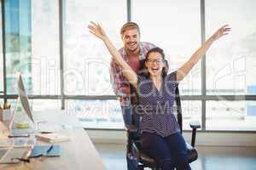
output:
[[[32,111],[29,106],[28,98],[26,95],[26,89],[24,87],[24,82],[22,80],[20,72],[17,73],[17,90],[22,108],[26,112],[26,115],[31,119],[31,121],[34,122]]]

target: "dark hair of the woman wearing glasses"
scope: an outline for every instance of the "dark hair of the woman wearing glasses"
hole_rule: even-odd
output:
[[[161,77],[162,78],[166,77],[166,75],[168,73],[169,65],[168,65],[168,62],[166,60],[166,57],[165,57],[166,55],[164,53],[164,50],[161,49],[161,48],[158,48],[158,47],[149,49],[148,53],[146,54],[146,58],[140,61],[139,72],[138,72],[138,74],[140,76],[144,76],[146,78],[150,77],[148,69],[146,68],[146,62],[148,60],[149,54],[155,53],[155,52],[161,54],[161,56],[162,56],[162,59],[164,61],[164,67],[161,71]]]

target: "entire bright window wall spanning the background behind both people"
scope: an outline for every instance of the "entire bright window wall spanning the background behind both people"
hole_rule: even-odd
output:
[[[61,16],[60,3],[63,3]],[[126,6],[129,3],[131,10]],[[201,6],[204,3],[205,6]],[[199,61],[180,82],[183,128],[190,129],[189,122],[196,120],[201,121],[203,131],[256,130],[254,0],[162,0],[160,3],[153,0],[112,0],[111,3],[9,0],[4,1],[4,8],[5,18],[0,18],[0,26],[3,27],[4,21],[6,75],[3,75],[0,29],[0,97],[7,98],[12,106],[16,101],[12,96],[16,94],[15,75],[20,71],[27,94],[37,95],[37,99],[30,99],[33,111],[65,106],[79,117],[83,127],[122,129],[119,101],[113,97],[109,80],[111,56],[102,41],[90,35],[86,28],[90,20],[102,24],[114,45],[121,48],[119,29],[127,16],[131,16],[141,28],[141,40],[165,50],[170,72],[183,65],[201,46],[204,33],[201,26],[206,28],[207,39],[218,27],[230,24],[230,35],[212,45],[206,54],[206,63]],[[205,13],[201,13],[201,8]],[[203,14],[205,20],[201,20]],[[60,18],[63,19],[61,29]],[[63,56],[60,39],[63,39]],[[64,89],[60,81],[62,62]],[[201,79],[201,72],[206,72],[206,79]],[[3,82],[7,84],[5,96]],[[102,99],[96,99],[97,96]]]

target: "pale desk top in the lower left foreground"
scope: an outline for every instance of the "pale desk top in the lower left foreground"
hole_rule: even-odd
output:
[[[61,130],[70,140],[61,142],[60,157],[42,157],[31,163],[2,167],[1,170],[103,170],[104,166],[96,148],[83,128]]]

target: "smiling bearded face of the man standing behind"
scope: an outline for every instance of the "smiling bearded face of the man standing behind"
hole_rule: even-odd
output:
[[[137,52],[140,42],[140,35],[137,29],[125,31],[122,39],[126,50],[130,51],[131,53]]]

